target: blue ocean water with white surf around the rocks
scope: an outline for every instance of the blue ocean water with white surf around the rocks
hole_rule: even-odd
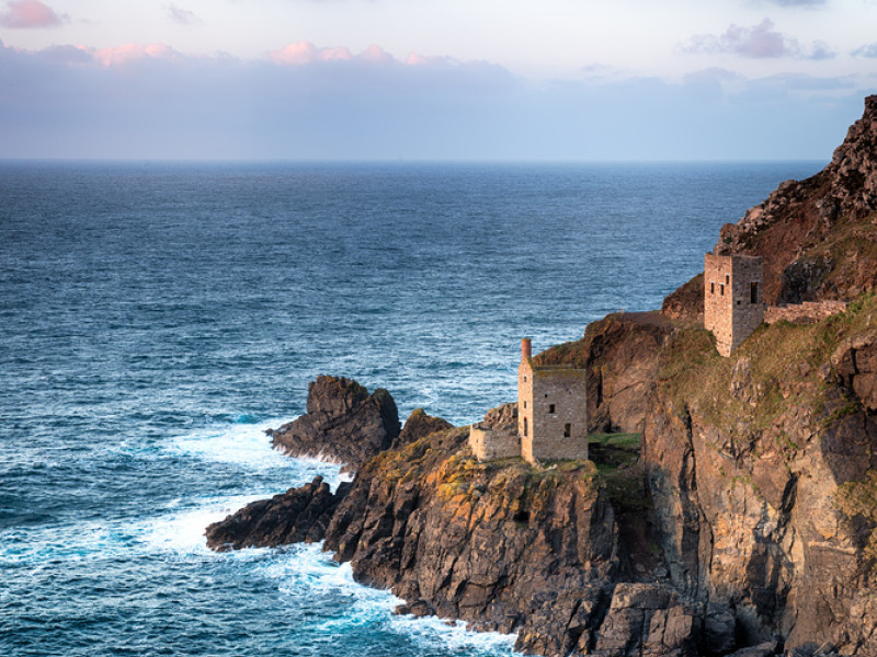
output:
[[[511,655],[204,527],[338,483],[264,435],[317,374],[472,422],[822,164],[0,163],[0,655]]]

